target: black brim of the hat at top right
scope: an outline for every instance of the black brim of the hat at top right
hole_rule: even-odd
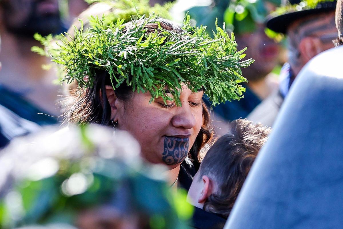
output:
[[[315,15],[322,12],[330,12],[336,9],[336,5],[329,5],[325,8],[308,9],[302,11],[288,12],[281,14],[279,16],[268,16],[265,25],[267,28],[277,32],[277,33],[287,33],[287,28],[295,20],[304,18],[306,16]]]

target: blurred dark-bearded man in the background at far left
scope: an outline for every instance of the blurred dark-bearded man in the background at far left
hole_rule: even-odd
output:
[[[35,33],[48,35],[62,28],[57,0],[0,1],[0,105],[13,112],[14,119],[38,125],[57,123],[57,118],[51,117],[61,114],[56,105],[59,86],[52,83],[55,73],[42,69],[48,59],[33,53],[31,47],[39,44],[33,37]],[[22,126],[20,122],[13,125]],[[2,135],[11,140],[32,130],[28,126],[23,129]],[[0,131],[6,130],[1,127]]]

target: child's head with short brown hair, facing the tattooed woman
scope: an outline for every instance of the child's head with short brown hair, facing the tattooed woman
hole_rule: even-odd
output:
[[[188,201],[227,217],[270,128],[246,119],[230,123],[229,133],[209,149],[193,178]]]

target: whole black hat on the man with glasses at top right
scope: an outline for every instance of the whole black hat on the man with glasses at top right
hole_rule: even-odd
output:
[[[336,9],[336,0],[334,1],[327,1],[321,2],[316,5],[314,9],[304,9],[301,10],[301,6],[299,5],[299,11],[289,11],[285,12],[281,15],[270,14],[267,16],[266,26],[271,30],[278,32],[278,33],[287,33],[288,26],[293,23],[297,19],[304,18],[309,15],[316,15],[322,12],[330,12]],[[297,5],[299,4],[299,0],[289,0],[286,1],[284,5]]]

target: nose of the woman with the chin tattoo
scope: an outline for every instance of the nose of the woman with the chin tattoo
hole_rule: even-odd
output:
[[[177,107],[177,112],[171,119],[171,123],[174,127],[185,129],[191,129],[196,125],[196,119],[188,103],[182,103],[182,106]]]

